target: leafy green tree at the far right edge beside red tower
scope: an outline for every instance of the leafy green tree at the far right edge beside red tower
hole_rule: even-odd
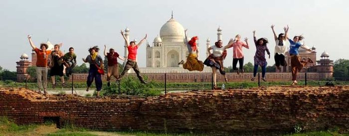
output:
[[[334,63],[333,76],[336,80],[348,80],[349,79],[349,60],[339,59]]]

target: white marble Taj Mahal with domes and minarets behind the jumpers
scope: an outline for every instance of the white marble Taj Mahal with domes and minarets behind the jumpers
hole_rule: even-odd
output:
[[[221,29],[218,28],[217,39],[221,39]],[[125,33],[130,32],[129,28],[125,29]],[[125,35],[126,35],[125,34]],[[128,35],[127,35],[128,36]],[[207,48],[210,40],[207,39]],[[198,48],[200,45],[198,45]],[[180,60],[185,60],[189,52],[184,43],[184,27],[177,22],[173,15],[161,27],[160,36],[154,38],[153,44],[147,43],[146,61],[147,66],[140,68],[142,73],[197,73],[198,71],[188,71],[178,65]],[[206,54],[208,56],[208,54]],[[125,58],[127,58],[127,48],[125,46]],[[202,72],[211,72],[210,67],[205,67]],[[130,70],[134,73],[133,69]]]

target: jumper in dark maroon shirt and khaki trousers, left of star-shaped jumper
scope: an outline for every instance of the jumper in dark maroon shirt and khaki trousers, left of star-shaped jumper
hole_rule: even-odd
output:
[[[114,76],[115,79],[118,79],[119,77],[118,58],[121,60],[125,60],[125,58],[121,58],[121,56],[117,52],[115,52],[113,48],[110,48],[109,52],[107,52],[106,45],[104,45],[104,56],[106,56],[108,60],[108,67],[107,67],[108,84],[107,85],[110,86],[111,76]]]

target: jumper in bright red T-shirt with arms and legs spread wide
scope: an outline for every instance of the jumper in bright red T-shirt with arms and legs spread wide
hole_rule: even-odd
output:
[[[141,44],[143,43],[143,41],[145,39],[147,39],[147,34],[146,37],[144,37],[137,45],[135,44],[134,41],[131,41],[129,43],[128,39],[125,37],[124,35],[124,31],[121,30],[121,35],[123,36],[123,38],[125,39],[126,43],[127,43],[127,50],[129,51],[129,55],[127,56],[127,62],[124,68],[124,71],[120,74],[119,78],[117,79],[117,81],[120,81],[121,78],[125,75],[125,73],[130,69],[133,68],[133,70],[136,72],[138,79],[141,81],[141,83],[143,84],[147,84],[146,81],[144,81],[143,77],[140,74],[140,70],[138,68],[137,65],[137,49],[139,46],[141,46]]]

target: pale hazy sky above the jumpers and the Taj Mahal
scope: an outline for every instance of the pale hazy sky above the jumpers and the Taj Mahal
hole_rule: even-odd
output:
[[[160,28],[174,18],[199,37],[200,60],[205,59],[206,39],[216,40],[216,29],[223,29],[223,44],[240,34],[248,37],[251,48],[244,49],[245,63],[255,53],[252,31],[269,39],[274,53],[275,42],[270,28],[277,33],[290,26],[290,37],[303,34],[305,43],[317,48],[317,58],[327,51],[330,59],[349,59],[348,0],[1,0],[0,4],[0,66],[15,71],[15,62],[22,53],[30,57],[31,47],[26,35],[32,34],[36,45],[49,38],[51,43],[63,42],[61,50],[74,47],[81,58],[87,49],[99,45],[116,49],[124,55],[120,30],[129,27],[131,39],[148,34],[150,44]],[[138,51],[140,67],[146,66],[146,46]],[[102,55],[103,52],[100,54]],[[268,65],[273,65],[273,55]],[[232,65],[232,49],[224,65]]]

